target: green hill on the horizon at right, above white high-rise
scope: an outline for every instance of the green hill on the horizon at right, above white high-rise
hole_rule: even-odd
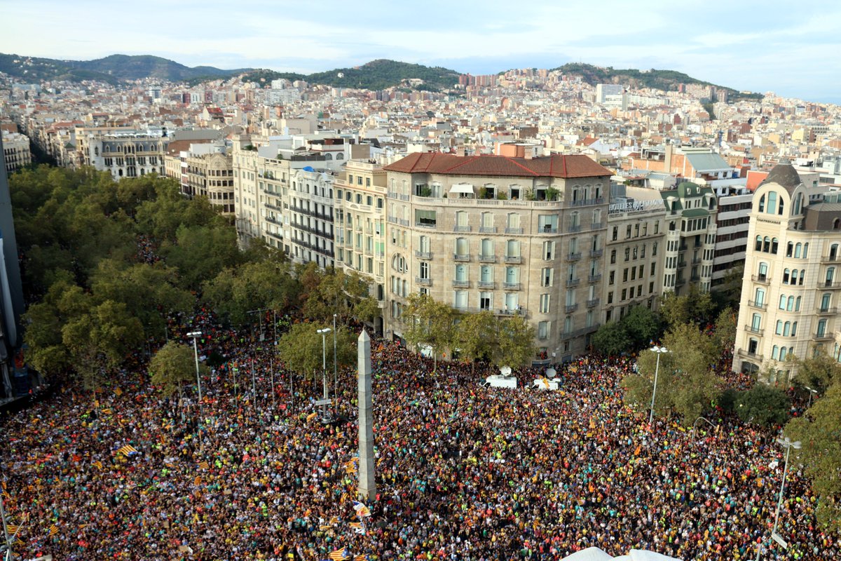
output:
[[[680,84],[697,84],[700,86],[715,86],[719,90],[727,91],[730,98],[762,98],[760,93],[740,93],[732,87],[718,86],[711,82],[704,82],[688,74],[674,70],[637,70],[636,68],[615,69],[612,66],[593,66],[579,62],[569,62],[552,70],[573,76],[580,76],[591,86],[595,84],[626,84],[631,87],[650,87],[674,92]]]

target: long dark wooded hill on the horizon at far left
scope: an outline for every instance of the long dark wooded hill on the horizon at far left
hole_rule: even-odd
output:
[[[182,82],[197,78],[218,79],[241,74],[249,68],[221,70],[214,66],[184,66],[160,56],[111,55],[94,61],[61,61],[34,56],[0,54],[0,72],[27,82],[41,80],[99,80],[116,84],[121,80],[158,78]]]

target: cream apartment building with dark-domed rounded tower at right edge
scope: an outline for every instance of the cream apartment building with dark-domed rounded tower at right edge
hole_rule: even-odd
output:
[[[787,384],[785,357],[841,351],[841,198],[811,197],[788,163],[776,165],[754,192],[733,369],[771,371]]]

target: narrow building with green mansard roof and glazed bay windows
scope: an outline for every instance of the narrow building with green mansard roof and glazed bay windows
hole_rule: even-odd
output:
[[[660,195],[666,208],[664,292],[680,296],[693,284],[709,292],[716,246],[716,194],[709,187],[683,182]]]

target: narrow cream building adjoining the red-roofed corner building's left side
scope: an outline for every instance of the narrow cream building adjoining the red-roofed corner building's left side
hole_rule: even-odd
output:
[[[385,307],[386,172],[376,161],[349,160],[336,176],[334,216],[336,267],[370,279],[368,294]],[[383,333],[383,320],[374,325]]]

